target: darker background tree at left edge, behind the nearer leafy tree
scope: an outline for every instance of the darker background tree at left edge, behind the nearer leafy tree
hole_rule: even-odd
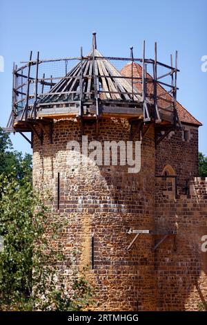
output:
[[[12,150],[8,133],[0,127],[0,175],[12,174],[20,181],[27,176],[32,179],[32,156]]]

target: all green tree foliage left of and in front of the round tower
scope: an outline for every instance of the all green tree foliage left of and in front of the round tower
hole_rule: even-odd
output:
[[[50,245],[58,243],[59,223],[48,196],[32,190],[31,156],[11,150],[0,129],[0,310],[82,310],[91,303],[91,287],[74,269],[66,290],[58,269],[63,254]]]

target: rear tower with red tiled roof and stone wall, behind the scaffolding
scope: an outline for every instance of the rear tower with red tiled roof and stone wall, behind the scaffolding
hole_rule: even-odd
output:
[[[141,77],[141,66],[139,64],[127,64],[121,70],[123,75],[128,77]],[[148,75],[150,77],[150,75]],[[164,89],[158,85],[157,94],[162,94],[161,97],[170,99],[170,95],[164,93]],[[137,85],[139,91],[141,91],[141,84]],[[147,96],[153,94],[152,83],[148,83],[146,86]],[[168,104],[159,99],[158,104],[160,107],[166,107]],[[177,102],[177,110],[180,118],[188,120],[188,114],[186,114],[185,109]],[[175,170],[175,174],[178,176],[178,187],[179,192],[185,192],[184,187],[186,186],[186,180],[190,177],[198,176],[198,127],[196,125],[190,125],[188,123],[182,122],[182,126],[186,131],[189,132],[189,139],[184,139],[184,131],[172,131],[169,136],[164,138],[156,149],[156,174],[161,175],[164,167],[166,165],[171,165]]]

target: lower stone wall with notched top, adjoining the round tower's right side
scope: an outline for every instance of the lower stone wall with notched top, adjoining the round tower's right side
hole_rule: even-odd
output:
[[[155,250],[157,310],[199,310],[207,301],[207,252],[201,237],[207,235],[207,178],[190,180],[191,196],[178,199],[170,193],[170,179],[157,178],[155,236],[175,230]]]

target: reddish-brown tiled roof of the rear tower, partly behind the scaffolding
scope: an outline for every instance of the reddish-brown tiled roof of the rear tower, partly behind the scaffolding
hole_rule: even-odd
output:
[[[124,66],[124,68],[121,69],[121,74],[125,75],[126,77],[131,77],[131,75],[133,75],[133,77],[141,78],[142,68],[137,63],[133,63],[133,67],[132,67],[131,63],[126,64],[126,66]],[[152,76],[150,76],[148,73],[147,73],[147,77],[152,78]],[[147,96],[149,97],[150,95],[153,95],[153,93],[154,93],[153,84],[152,83],[147,84],[146,88],[147,88]],[[141,92],[141,84],[137,84],[137,89]],[[161,95],[161,94],[162,94],[162,97],[164,98],[164,100],[159,99],[157,101],[158,105],[160,107],[166,108],[169,104],[165,100],[170,100],[172,97],[160,84],[158,84],[157,95]],[[197,125],[198,127],[202,125],[201,122],[199,122],[196,118],[194,118],[193,115],[191,115],[184,108],[184,106],[182,106],[179,102],[177,102],[177,113],[179,116],[179,120],[181,122],[194,124],[194,125]]]

